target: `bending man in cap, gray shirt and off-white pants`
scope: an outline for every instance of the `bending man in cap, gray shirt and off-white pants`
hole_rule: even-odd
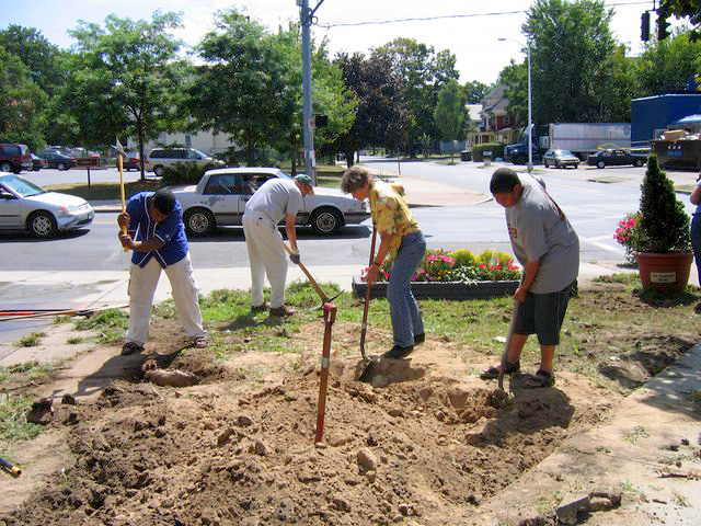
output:
[[[295,219],[302,209],[302,197],[313,194],[309,175],[294,179],[274,178],[261,185],[249,199],[243,213],[243,233],[251,265],[251,309],[265,310],[263,285],[267,275],[271,282],[271,316],[291,316],[295,310],[285,305],[287,260],[283,236],[277,224],[285,218],[285,230],[291,245],[289,259],[299,263]]]

